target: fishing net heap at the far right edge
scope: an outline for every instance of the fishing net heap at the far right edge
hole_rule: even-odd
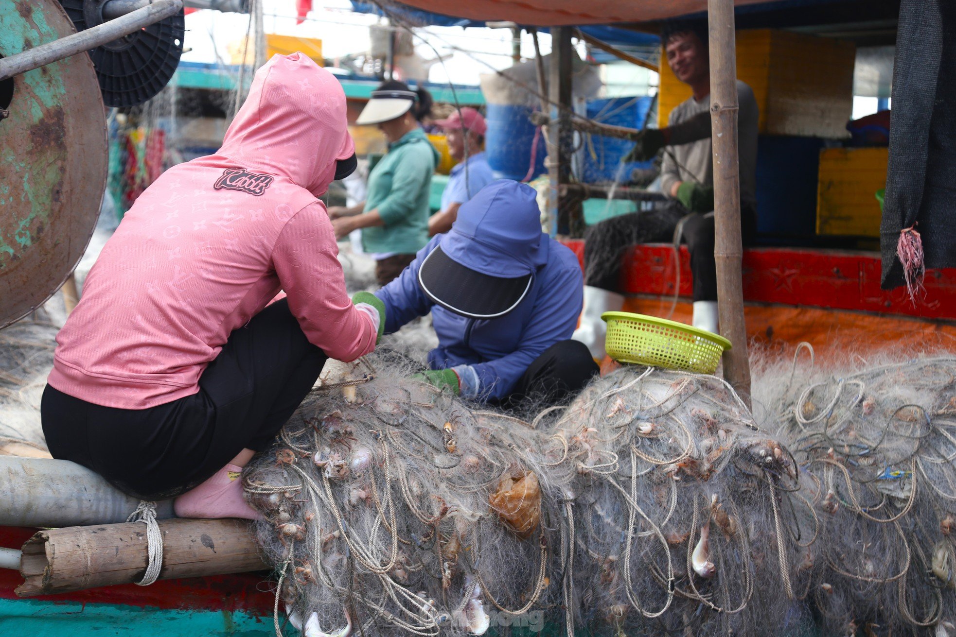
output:
[[[823,625],[956,634],[956,357],[781,376],[768,404],[824,525],[811,589]]]

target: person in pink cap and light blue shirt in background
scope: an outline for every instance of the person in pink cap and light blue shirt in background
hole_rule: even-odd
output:
[[[451,169],[448,184],[442,193],[442,209],[428,220],[428,236],[434,237],[451,229],[462,203],[494,181],[488,159],[485,159],[485,132],[488,125],[481,113],[463,106],[451,117],[435,122],[445,129],[448,154],[458,163]]]

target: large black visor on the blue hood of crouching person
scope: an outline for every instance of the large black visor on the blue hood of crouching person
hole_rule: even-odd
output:
[[[419,268],[425,295],[456,314],[491,319],[516,308],[532,287],[532,274],[505,279],[482,274],[448,257],[441,246]]]

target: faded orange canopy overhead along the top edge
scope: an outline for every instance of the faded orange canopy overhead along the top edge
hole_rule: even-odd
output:
[[[734,4],[765,2],[735,0]],[[536,27],[646,22],[707,8],[706,0],[404,0],[404,4],[466,20],[503,20]]]

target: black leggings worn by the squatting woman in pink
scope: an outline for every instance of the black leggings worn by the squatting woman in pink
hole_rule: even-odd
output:
[[[53,457],[140,499],[180,495],[243,449],[261,451],[315,385],[326,356],[285,300],[233,331],[199,392],[144,410],[102,407],[47,386],[40,412]]]

